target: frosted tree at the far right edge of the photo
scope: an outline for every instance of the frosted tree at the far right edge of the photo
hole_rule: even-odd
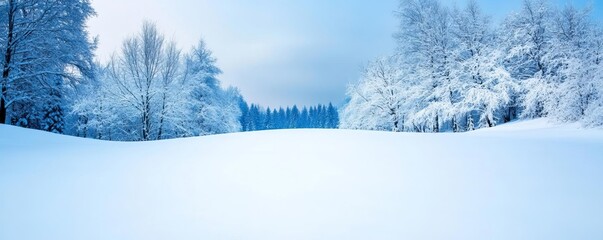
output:
[[[548,112],[561,121],[577,121],[586,115],[596,99],[597,73],[596,28],[589,21],[590,9],[566,5],[553,15],[554,51],[547,57],[559,69],[560,84],[554,88],[555,98]]]

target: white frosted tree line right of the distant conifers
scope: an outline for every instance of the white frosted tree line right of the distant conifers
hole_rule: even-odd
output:
[[[549,117],[603,125],[603,29],[590,8],[524,0],[494,26],[476,1],[401,0],[396,50],[348,91],[341,127],[470,131]]]

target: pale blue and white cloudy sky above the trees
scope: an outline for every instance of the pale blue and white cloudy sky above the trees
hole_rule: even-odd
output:
[[[467,0],[442,0],[462,6]],[[478,0],[500,21],[522,0]],[[603,0],[593,3],[603,19]],[[343,103],[368,61],[395,48],[398,0],[92,0],[97,56],[105,61],[145,20],[188,51],[203,39],[224,72],[222,85],[239,88],[248,102],[278,107]]]

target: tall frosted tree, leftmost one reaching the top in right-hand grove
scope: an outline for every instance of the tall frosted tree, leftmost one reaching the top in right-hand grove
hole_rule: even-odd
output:
[[[423,100],[419,115],[429,128],[440,131],[445,111],[453,104],[450,91],[451,49],[450,15],[437,0],[402,0],[397,16],[400,28],[395,38],[399,55],[412,63],[414,75],[421,79]]]

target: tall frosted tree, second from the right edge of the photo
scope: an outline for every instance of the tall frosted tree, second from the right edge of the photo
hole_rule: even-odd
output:
[[[505,68],[523,86],[522,115],[527,118],[546,116],[552,106],[558,68],[547,57],[555,51],[551,16],[546,0],[524,0],[521,12],[510,15],[502,28]]]

